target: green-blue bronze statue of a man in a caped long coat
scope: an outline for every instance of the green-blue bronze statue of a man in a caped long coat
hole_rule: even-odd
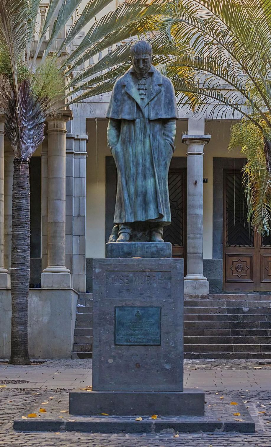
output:
[[[178,119],[174,87],[153,67],[149,42],[134,42],[130,55],[132,67],[114,84],[106,115],[107,143],[118,172],[110,241],[136,240],[133,234],[141,231],[148,234],[143,240],[163,242],[163,228],[171,222],[168,171]]]

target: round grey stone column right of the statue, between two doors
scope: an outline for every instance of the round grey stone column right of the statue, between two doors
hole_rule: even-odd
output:
[[[203,148],[210,135],[183,135],[187,144],[187,274],[185,295],[208,295],[203,276]]]

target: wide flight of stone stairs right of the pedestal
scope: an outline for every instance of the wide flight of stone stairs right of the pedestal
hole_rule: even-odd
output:
[[[185,358],[270,358],[270,295],[185,297]]]

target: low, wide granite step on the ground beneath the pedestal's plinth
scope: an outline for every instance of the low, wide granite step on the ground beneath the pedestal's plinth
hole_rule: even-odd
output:
[[[92,392],[85,392],[92,394]],[[203,394],[203,393],[202,393]],[[49,396],[49,395],[48,395]],[[246,409],[243,401],[237,396],[224,394],[223,401],[220,395],[206,393],[206,404],[204,416],[161,416],[155,409],[144,415],[143,410],[133,416],[101,415],[75,416],[70,413],[63,413],[64,408],[68,408],[68,394],[62,396],[60,401],[50,401],[46,407],[47,413],[38,413],[42,406],[25,410],[21,416],[26,417],[31,411],[39,414],[37,418],[22,419],[21,417],[13,422],[13,428],[17,431],[78,431],[87,433],[167,433],[171,438],[177,432],[196,433],[202,432],[241,432],[254,433],[255,423]],[[237,403],[232,406],[231,402]],[[204,405],[204,402],[203,402]],[[170,413],[174,411],[174,406],[170,408]],[[106,411],[106,410],[104,410]],[[238,411],[240,416],[233,413]],[[157,414],[157,419],[152,419],[152,414]],[[61,418],[59,418],[61,416]],[[138,417],[142,420],[136,421]]]

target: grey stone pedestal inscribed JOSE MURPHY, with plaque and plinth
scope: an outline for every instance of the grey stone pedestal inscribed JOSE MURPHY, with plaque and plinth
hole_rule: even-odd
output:
[[[124,256],[93,261],[93,392],[70,393],[70,413],[203,415],[183,390],[183,260]]]

